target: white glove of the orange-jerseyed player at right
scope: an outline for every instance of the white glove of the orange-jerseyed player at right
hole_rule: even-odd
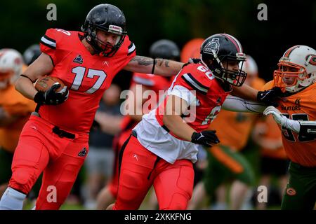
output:
[[[268,116],[269,114],[272,114],[273,118],[275,119],[275,122],[278,123],[280,126],[292,130],[296,133],[300,132],[301,125],[298,122],[298,120],[291,120],[283,116],[282,113],[279,112],[279,110],[276,109],[274,106],[268,106],[263,111],[263,115]]]

